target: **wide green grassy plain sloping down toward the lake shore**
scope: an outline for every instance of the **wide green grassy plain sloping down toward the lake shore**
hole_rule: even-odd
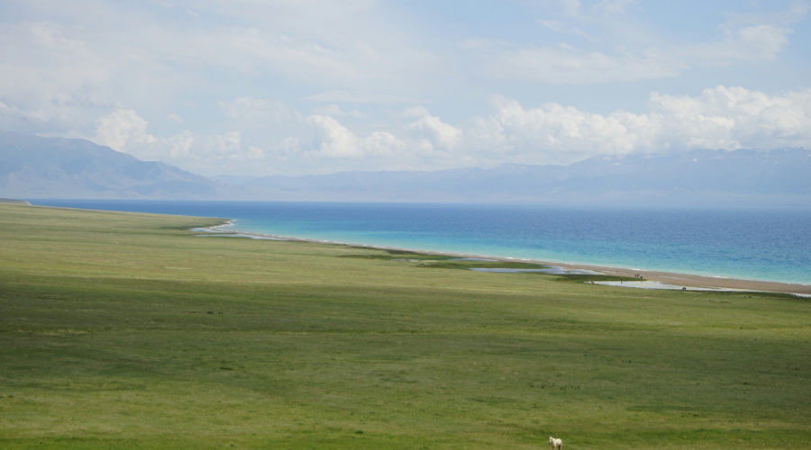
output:
[[[811,447],[811,301],[0,205],[0,448]]]

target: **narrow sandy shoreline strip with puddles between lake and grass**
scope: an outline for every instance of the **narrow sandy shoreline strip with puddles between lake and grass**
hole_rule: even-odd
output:
[[[690,274],[679,274],[679,273],[671,273],[671,272],[661,272],[661,271],[652,271],[652,270],[644,270],[644,269],[630,269],[630,268],[623,268],[623,267],[608,267],[608,266],[591,266],[588,264],[574,264],[574,263],[559,263],[559,262],[551,262],[551,261],[541,261],[535,259],[519,259],[519,258],[511,258],[511,257],[489,257],[489,256],[482,256],[482,255],[469,255],[469,254],[458,254],[458,253],[448,253],[448,252],[437,252],[431,250],[417,250],[411,248],[398,248],[398,247],[385,247],[385,246],[373,246],[373,245],[366,245],[366,244],[351,244],[348,242],[333,242],[333,241],[326,241],[326,240],[319,240],[319,239],[310,239],[310,238],[294,238],[289,236],[277,236],[277,235],[270,235],[264,233],[256,233],[251,231],[238,231],[233,229],[223,229],[224,227],[230,227],[234,223],[234,220],[228,220],[227,222],[221,225],[214,225],[213,227],[205,227],[204,230],[213,233],[212,236],[220,235],[231,235],[232,237],[243,237],[243,238],[257,238],[257,239],[269,239],[269,240],[288,240],[288,241],[298,241],[298,242],[314,242],[319,244],[333,244],[333,245],[345,245],[345,246],[352,246],[352,247],[366,247],[366,248],[376,248],[380,250],[397,250],[397,251],[413,251],[415,253],[424,253],[426,255],[442,255],[442,256],[449,256],[449,257],[471,257],[471,258],[481,258],[481,259],[492,259],[494,261],[521,261],[527,263],[538,264],[541,266],[556,266],[562,267],[567,270],[590,270],[594,272],[599,272],[600,274],[605,275],[614,275],[614,276],[621,276],[628,278],[628,281],[640,281],[636,275],[642,275],[642,278],[646,281],[652,282],[659,282],[661,284],[670,284],[673,286],[684,286],[690,288],[708,288],[713,290],[729,290],[729,291],[744,291],[744,292],[764,292],[764,293],[788,293],[794,294],[799,297],[811,297],[811,284],[791,284],[791,283],[781,283],[781,282],[770,282],[770,281],[761,281],[761,280],[745,280],[740,278],[725,278],[725,277],[716,277],[716,276],[708,276],[708,275],[690,275]],[[633,288],[634,286],[627,286],[629,288]],[[637,287],[639,288],[639,287]]]

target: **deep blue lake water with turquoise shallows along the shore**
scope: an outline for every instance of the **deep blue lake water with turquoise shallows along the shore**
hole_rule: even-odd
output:
[[[220,217],[277,236],[811,284],[811,209],[33,200]]]

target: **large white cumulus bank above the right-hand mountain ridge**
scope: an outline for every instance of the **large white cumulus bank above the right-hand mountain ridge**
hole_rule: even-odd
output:
[[[811,146],[811,90],[768,95],[717,86],[697,96],[652,93],[649,112],[581,111],[558,103],[525,108],[496,96],[494,114],[473,121],[470,146],[483,158],[568,164],[595,155],[687,148]]]

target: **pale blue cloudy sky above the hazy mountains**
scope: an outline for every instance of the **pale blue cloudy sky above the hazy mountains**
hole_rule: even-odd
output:
[[[200,175],[811,148],[811,0],[0,0],[0,130]]]

